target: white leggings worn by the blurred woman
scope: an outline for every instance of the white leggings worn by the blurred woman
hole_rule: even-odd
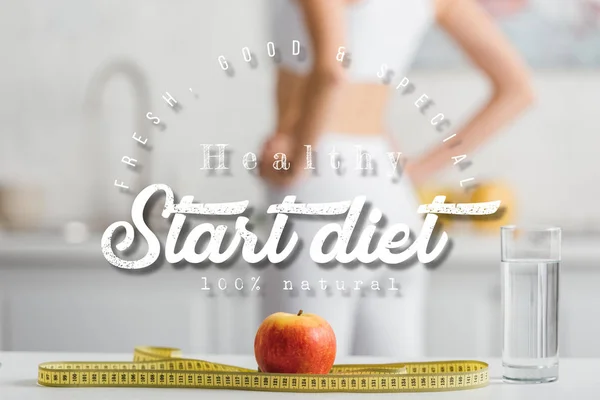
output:
[[[371,156],[375,174],[356,169],[359,154],[356,146]],[[334,148],[340,157],[339,170],[331,164],[330,153]],[[347,201],[364,195],[371,209],[378,208],[383,213],[385,221],[378,228],[405,223],[411,229],[412,243],[422,225],[417,214],[418,202],[407,177],[392,180],[387,153],[393,150],[385,137],[331,133],[323,135],[313,150],[316,173],[308,172],[292,187],[269,188],[269,204],[281,203],[289,195],[297,196],[298,203]],[[362,161],[365,167],[365,157]],[[398,168],[401,169],[400,163]],[[363,214],[367,211],[363,210]],[[261,316],[278,311],[297,313],[300,309],[322,316],[335,331],[340,357],[351,354],[398,359],[424,357],[429,271],[418,261],[402,267],[318,265],[312,261],[309,248],[317,231],[327,223],[322,218],[290,216],[288,224],[298,233],[302,245],[285,267],[269,265],[261,272],[265,290]],[[343,223],[345,218],[342,215],[336,221]],[[326,281],[328,290],[322,290],[321,279]],[[283,290],[284,280],[292,282],[292,291]],[[302,281],[308,281],[310,291],[301,290]],[[338,290],[336,281],[345,291]],[[356,281],[363,282],[360,290],[354,290]],[[373,281],[381,290],[372,289]]]

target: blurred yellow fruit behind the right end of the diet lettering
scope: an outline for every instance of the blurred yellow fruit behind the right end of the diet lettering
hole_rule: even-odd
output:
[[[515,222],[515,197],[509,186],[502,182],[482,183],[471,192],[471,203],[500,201],[500,208],[492,215],[472,216],[475,229],[482,232],[499,233],[500,227]]]

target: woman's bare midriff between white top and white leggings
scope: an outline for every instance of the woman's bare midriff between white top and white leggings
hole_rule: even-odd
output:
[[[293,129],[301,107],[306,77],[284,68],[277,79],[277,126],[279,132]],[[386,113],[390,89],[372,83],[344,83],[332,105],[326,132],[348,135],[378,135],[387,130]]]

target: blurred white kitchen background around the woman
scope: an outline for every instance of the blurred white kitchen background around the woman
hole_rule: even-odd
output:
[[[428,355],[500,355],[498,226],[543,223],[564,230],[561,355],[600,357],[600,1],[484,3],[532,66],[537,102],[470,154],[471,167],[449,161],[421,188],[426,202],[441,191],[462,201],[458,182],[473,176],[480,187],[467,198],[508,206],[500,221],[447,224],[454,246],[434,274]],[[213,285],[227,278],[230,287],[243,277],[248,287],[260,271],[165,264],[128,273],[104,260],[100,236],[130,220],[134,195],[150,183],[196,201],[250,200],[260,218],[261,184],[241,157],[258,151],[272,128],[272,4],[0,1],[0,350],[128,352],[151,344],[252,353],[260,292],[200,288],[202,277]],[[244,62],[246,46],[256,65]],[[221,70],[221,55],[232,74]],[[396,92],[389,118],[407,155],[443,139],[414,106],[420,95],[458,127],[488,94],[437,29],[404,74],[416,90]],[[178,110],[162,99],[166,92]],[[133,132],[152,149],[137,146]],[[230,144],[230,175],[200,170],[202,143]],[[142,168],[127,168],[123,156]]]

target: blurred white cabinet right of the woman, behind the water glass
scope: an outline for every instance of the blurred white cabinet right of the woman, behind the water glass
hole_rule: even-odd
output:
[[[451,266],[447,267],[435,274],[432,288],[429,355],[500,357],[499,275],[494,272],[452,272]],[[600,309],[600,271],[563,268],[560,279],[560,355],[599,357],[600,320],[595,315]]]

